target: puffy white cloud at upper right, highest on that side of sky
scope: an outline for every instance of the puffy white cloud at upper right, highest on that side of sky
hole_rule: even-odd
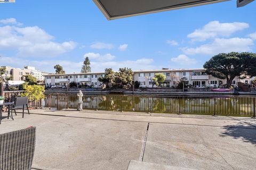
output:
[[[187,37],[192,41],[205,41],[215,37],[229,37],[232,33],[249,28],[248,23],[233,22],[220,23],[219,21],[211,21],[204,25],[202,29],[197,29],[190,33]]]

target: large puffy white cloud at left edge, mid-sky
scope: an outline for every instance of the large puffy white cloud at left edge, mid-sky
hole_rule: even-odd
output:
[[[53,57],[76,47],[74,41],[56,43],[54,37],[43,29],[34,27],[0,27],[0,49],[17,50],[19,56]]]

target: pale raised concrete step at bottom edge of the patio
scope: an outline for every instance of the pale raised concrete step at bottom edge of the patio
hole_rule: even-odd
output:
[[[130,160],[127,170],[195,170],[195,169]]]

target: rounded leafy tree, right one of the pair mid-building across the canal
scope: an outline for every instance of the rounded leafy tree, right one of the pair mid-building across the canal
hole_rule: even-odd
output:
[[[128,69],[126,67],[119,69],[119,72],[115,73],[115,83],[119,84],[121,87],[125,87],[131,84],[132,78],[132,69]]]

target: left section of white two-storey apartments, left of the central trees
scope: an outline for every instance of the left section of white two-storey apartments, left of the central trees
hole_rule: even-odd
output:
[[[99,77],[104,77],[105,73],[73,73],[73,74],[48,74],[45,75],[45,86],[68,86],[70,82],[76,82],[77,86],[87,84],[94,88],[100,87]]]

